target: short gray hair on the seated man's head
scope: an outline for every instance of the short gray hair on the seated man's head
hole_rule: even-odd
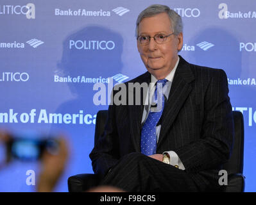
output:
[[[139,23],[142,19],[147,17],[152,17],[154,15],[157,15],[159,13],[167,13],[169,16],[169,19],[171,20],[171,26],[172,30],[175,35],[178,35],[183,30],[183,24],[182,24],[182,18],[178,13],[176,13],[174,10],[171,10],[169,6],[160,5],[160,4],[153,4],[151,6],[148,6],[145,10],[143,10],[137,20],[136,20],[136,30],[135,30],[135,36],[138,37],[139,35]]]

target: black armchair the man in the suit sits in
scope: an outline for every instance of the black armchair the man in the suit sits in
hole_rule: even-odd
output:
[[[228,185],[223,185],[223,192],[244,192],[243,163],[244,163],[244,120],[243,114],[233,111],[235,137],[234,149],[230,160],[223,166],[228,172]],[[107,120],[107,110],[98,111],[94,143],[103,133]],[[84,192],[99,184],[99,177],[96,174],[77,174],[68,179],[69,192]]]

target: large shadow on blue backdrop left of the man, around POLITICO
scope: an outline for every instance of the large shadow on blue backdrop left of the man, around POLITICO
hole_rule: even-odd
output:
[[[108,105],[94,104],[92,99],[98,91],[93,90],[94,83],[89,79],[100,81],[119,74],[123,67],[122,52],[123,37],[102,26],[87,26],[69,35],[63,42],[62,59],[58,62],[56,74],[64,78],[80,76],[80,80],[83,76],[88,81],[67,83],[73,98],[63,102],[55,111],[79,115],[76,124],[53,124],[51,127],[53,133],[59,130],[67,133],[70,147],[69,163],[56,191],[67,191],[67,177],[92,173],[89,153],[94,146],[96,113],[108,109]]]

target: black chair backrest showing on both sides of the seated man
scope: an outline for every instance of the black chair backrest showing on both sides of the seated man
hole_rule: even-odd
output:
[[[99,110],[96,117],[96,127],[94,144],[97,142],[99,136],[101,136],[105,129],[105,124],[107,121],[107,110]],[[239,111],[233,111],[234,116],[234,147],[230,157],[223,169],[225,169],[228,174],[241,173],[243,174],[244,165],[244,120],[243,114]]]

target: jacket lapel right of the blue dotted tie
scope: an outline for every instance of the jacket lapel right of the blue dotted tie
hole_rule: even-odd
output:
[[[180,108],[182,108],[182,105],[185,102],[185,99],[187,99],[189,93],[191,92],[192,87],[190,83],[193,80],[194,74],[192,74],[189,63],[183,60],[183,58],[180,56],[180,62],[176,69],[169,97],[164,105],[164,111],[161,117],[162,125],[158,146],[163,142],[169,127],[171,127],[171,124],[173,124],[178,112],[180,111]]]

